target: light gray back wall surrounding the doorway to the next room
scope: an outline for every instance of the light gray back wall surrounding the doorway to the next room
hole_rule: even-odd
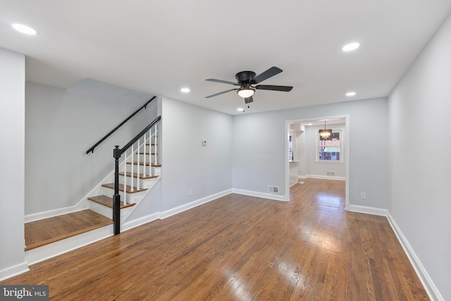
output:
[[[234,116],[233,188],[285,195],[285,121],[348,115],[350,204],[388,209],[387,110],[379,98]]]

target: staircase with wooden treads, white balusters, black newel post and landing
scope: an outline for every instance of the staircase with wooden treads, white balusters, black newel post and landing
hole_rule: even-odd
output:
[[[157,123],[160,120],[161,116],[157,117],[122,149],[116,146],[113,152],[115,170],[76,205],[79,209],[25,224],[25,259],[29,264],[74,250],[113,233],[116,235],[121,233],[122,228],[126,230],[136,226],[130,221],[131,226],[124,228],[124,223],[128,222],[130,214],[144,201],[161,176],[161,164],[157,163]],[[93,149],[89,151],[93,152]],[[85,219],[84,216],[89,217]],[[37,226],[42,230],[37,231]],[[39,233],[42,233],[42,239],[38,238]]]

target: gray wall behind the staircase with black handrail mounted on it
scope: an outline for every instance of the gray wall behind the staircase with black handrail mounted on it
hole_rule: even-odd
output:
[[[156,100],[94,154],[85,152],[149,99],[96,80],[67,90],[27,82],[25,214],[73,206],[113,171],[114,145],[125,145],[156,117]]]

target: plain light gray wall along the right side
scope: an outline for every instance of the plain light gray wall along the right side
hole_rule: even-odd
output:
[[[451,300],[451,18],[389,97],[391,214]]]

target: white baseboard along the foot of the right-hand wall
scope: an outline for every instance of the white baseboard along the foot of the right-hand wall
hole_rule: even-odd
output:
[[[410,263],[414,267],[416,275],[418,275],[421,283],[423,283],[424,289],[426,290],[426,293],[428,293],[429,298],[431,300],[445,301],[445,299],[438,291],[438,288],[435,286],[435,283],[433,283],[431,276],[429,276],[423,264],[421,264],[420,259],[416,256],[414,249],[409,244],[409,241],[404,236],[404,234],[402,234],[401,229],[397,226],[390,212],[388,212],[387,219],[388,222],[390,223],[390,226],[393,228],[393,231],[395,232],[397,239],[400,241],[402,248],[404,249],[404,252],[407,254]]]

